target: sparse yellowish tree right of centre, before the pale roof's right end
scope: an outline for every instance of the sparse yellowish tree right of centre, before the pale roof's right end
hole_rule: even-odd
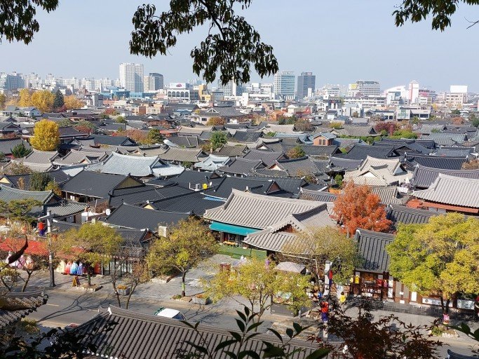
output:
[[[354,268],[358,264],[356,244],[337,228],[310,228],[298,233],[297,238],[281,249],[283,255],[297,257],[316,277],[323,277],[326,261],[332,262],[336,283],[348,283]]]

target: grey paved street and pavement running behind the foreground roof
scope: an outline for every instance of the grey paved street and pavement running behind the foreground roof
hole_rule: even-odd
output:
[[[187,276],[187,294],[193,295],[202,291],[199,283],[199,278],[203,276],[210,276],[212,266],[217,262],[224,261],[234,262],[234,259],[225,256],[216,256],[212,263],[203,264],[198,269],[190,271]],[[86,278],[81,279],[82,283]],[[107,308],[109,304],[116,306],[116,297],[114,297],[112,285],[109,283],[108,276],[95,276],[92,282],[103,285],[102,289],[93,292],[83,292],[82,290],[72,288],[72,277],[56,275],[57,287],[48,288],[48,273],[36,273],[32,277],[33,287],[45,287],[48,294],[48,303],[41,306],[36,312],[29,315],[29,318],[39,320],[44,327],[63,327],[70,323],[84,323],[86,320],[92,318],[97,313],[99,307]],[[229,329],[236,328],[236,312],[235,309],[242,308],[241,304],[230,300],[228,302],[221,302],[218,304],[209,304],[208,306],[201,306],[187,303],[181,300],[173,300],[171,297],[180,292],[180,278],[173,278],[168,283],[161,283],[153,281],[144,283],[137,287],[130,302],[130,308],[133,311],[140,313],[152,314],[161,306],[173,308],[182,311],[188,320],[192,322],[201,321],[208,325],[217,327],[224,327]],[[351,309],[353,313],[355,309]],[[382,315],[389,315],[388,311],[374,311],[376,317]],[[434,318],[430,316],[418,316],[409,313],[394,313],[401,320],[406,323],[414,325],[421,325],[432,323]],[[292,318],[271,315],[265,313],[263,316],[264,324],[260,330],[267,330],[267,327],[274,325],[275,327],[289,327],[292,325]],[[297,321],[298,319],[295,318]],[[302,319],[304,324],[311,322]],[[476,325],[477,326],[477,325]],[[469,354],[468,346],[474,344],[470,339],[464,338],[461,334],[459,339],[443,339],[446,346],[440,349],[441,355],[445,358],[447,348],[458,353]]]

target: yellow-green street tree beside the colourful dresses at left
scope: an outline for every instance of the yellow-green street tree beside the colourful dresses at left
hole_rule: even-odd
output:
[[[91,285],[91,273],[96,263],[109,262],[119,253],[123,238],[112,227],[101,222],[84,223],[78,229],[70,229],[61,236],[61,251],[74,255],[86,266],[88,285]]]

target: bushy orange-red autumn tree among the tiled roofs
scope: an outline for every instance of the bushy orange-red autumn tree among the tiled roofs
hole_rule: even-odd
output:
[[[386,232],[391,221],[386,219],[386,211],[381,199],[371,192],[370,187],[347,182],[342,194],[337,196],[333,218],[342,224],[342,229],[349,236],[356,229]]]

